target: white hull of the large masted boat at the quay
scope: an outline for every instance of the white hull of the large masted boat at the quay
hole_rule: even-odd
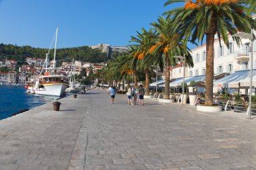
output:
[[[67,87],[69,87],[67,83],[46,83],[42,84],[42,87],[34,89],[34,93],[40,95],[61,96],[65,93],[65,89],[67,89]]]

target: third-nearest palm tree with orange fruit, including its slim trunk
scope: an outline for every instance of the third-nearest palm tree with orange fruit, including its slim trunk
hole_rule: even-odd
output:
[[[150,54],[150,48],[155,44],[158,38],[156,31],[150,29],[149,31],[141,28],[141,33],[137,32],[137,36],[131,36],[130,42],[136,42],[135,50],[133,56],[136,60],[140,62],[137,63],[138,68],[145,71],[146,83],[145,83],[145,95],[150,95],[150,68],[152,65],[156,65],[159,60]],[[134,59],[134,60],[135,60]],[[160,61],[160,64],[162,62]]]

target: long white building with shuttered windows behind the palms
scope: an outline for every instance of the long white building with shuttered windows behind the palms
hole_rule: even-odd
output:
[[[255,34],[255,32],[254,32]],[[241,39],[241,44],[236,44],[232,39],[232,36],[229,35],[229,44],[228,48],[223,40],[219,42],[217,36],[214,42],[214,75],[219,75],[221,73],[235,73],[237,71],[249,71],[251,62],[253,62],[253,69],[256,69],[256,59],[253,58],[251,61],[251,43],[249,39]],[[256,42],[253,44],[253,56],[256,54]],[[196,77],[200,75],[205,75],[206,71],[206,44],[198,46],[191,50],[191,55],[193,56],[194,67],[187,67],[185,70],[185,77]],[[244,72],[245,73],[245,72]],[[237,75],[236,74],[236,78]],[[177,65],[171,69],[171,79],[183,77],[183,69],[181,65]],[[236,81],[237,82],[236,82]],[[234,79],[232,83],[237,85],[231,86],[234,90],[238,89],[238,80]],[[256,80],[255,80],[256,81]],[[231,82],[230,82],[231,83]],[[256,83],[256,82],[255,82]],[[223,83],[222,83],[223,85]],[[226,85],[230,88],[230,86]],[[221,89],[220,85],[214,86],[214,92],[217,92]],[[242,94],[248,94],[249,87],[241,87],[240,92]],[[252,91],[255,93],[255,88]]]

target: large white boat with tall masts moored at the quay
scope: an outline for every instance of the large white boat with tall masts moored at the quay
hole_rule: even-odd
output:
[[[58,28],[55,34],[55,52],[53,58],[53,67],[48,67],[48,55],[46,54],[46,59],[44,60],[44,67],[38,77],[32,80],[32,85],[26,86],[28,92],[36,93],[40,95],[55,95],[61,96],[65,94],[65,89],[69,87],[68,77],[59,73],[58,69],[55,68],[55,56],[56,56],[56,46],[57,46],[57,35]]]

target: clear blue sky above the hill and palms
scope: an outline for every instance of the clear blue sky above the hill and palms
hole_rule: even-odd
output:
[[[0,0],[0,43],[49,48],[111,44],[126,46],[171,7],[167,0]]]

